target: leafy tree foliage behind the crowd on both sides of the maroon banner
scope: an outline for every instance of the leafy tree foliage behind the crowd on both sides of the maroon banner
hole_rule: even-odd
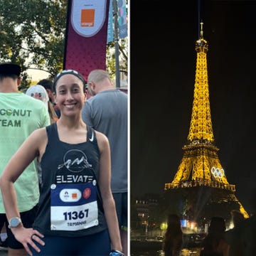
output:
[[[21,65],[21,88],[30,85],[28,68],[46,70],[53,78],[63,68],[67,0],[1,0],[0,61]],[[125,43],[126,42],[126,43]],[[127,40],[120,41],[120,52]],[[112,44],[107,46],[107,66],[114,73]],[[110,53],[110,55],[108,55]],[[127,64],[122,68],[127,70]]]

